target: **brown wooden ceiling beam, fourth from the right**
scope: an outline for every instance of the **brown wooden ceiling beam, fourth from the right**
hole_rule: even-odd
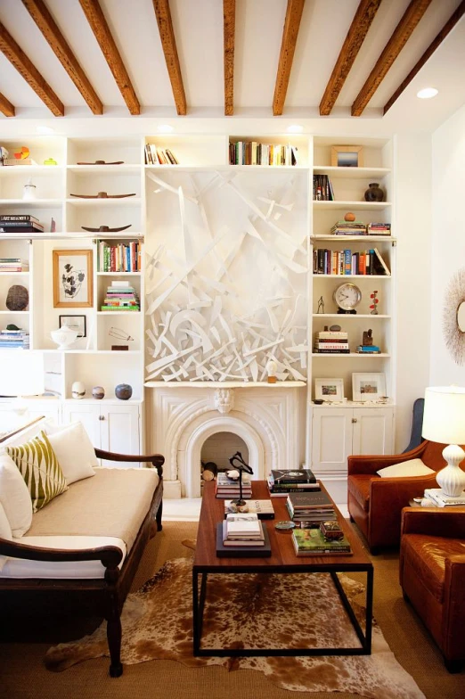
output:
[[[273,116],[279,117],[284,109],[286,94],[288,92],[290,70],[294,61],[294,53],[298,39],[298,29],[304,12],[306,0],[288,0],[286,18],[282,29],[280,60],[278,72],[274,84]]]

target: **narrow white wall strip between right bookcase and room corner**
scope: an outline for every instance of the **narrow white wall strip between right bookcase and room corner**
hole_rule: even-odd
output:
[[[431,138],[396,136],[396,453],[409,443],[413,401],[428,385]]]

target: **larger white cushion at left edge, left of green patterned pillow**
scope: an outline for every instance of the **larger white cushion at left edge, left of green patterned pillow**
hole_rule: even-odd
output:
[[[22,537],[32,522],[32,500],[18,466],[8,454],[0,454],[0,502],[13,537]]]

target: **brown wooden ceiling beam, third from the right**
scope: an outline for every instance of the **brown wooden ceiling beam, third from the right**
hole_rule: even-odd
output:
[[[322,96],[320,103],[322,117],[327,117],[331,113],[380,4],[381,0],[360,1]]]

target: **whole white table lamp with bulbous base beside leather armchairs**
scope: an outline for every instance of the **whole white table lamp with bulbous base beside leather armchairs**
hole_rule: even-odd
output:
[[[436,474],[445,495],[457,497],[465,489],[465,472],[459,464],[465,451],[465,388],[440,386],[425,391],[421,435],[430,441],[448,444],[443,451],[447,465]]]

